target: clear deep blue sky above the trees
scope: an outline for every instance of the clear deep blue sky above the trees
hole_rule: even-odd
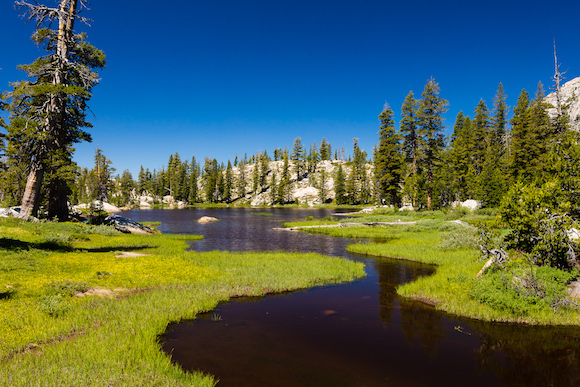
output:
[[[54,4],[54,0],[43,0]],[[578,1],[93,0],[77,24],[107,54],[90,101],[93,143],[75,160],[92,167],[98,145],[120,173],[160,169],[170,154],[227,162],[291,148],[294,138],[369,154],[385,102],[398,117],[427,80],[460,110],[491,108],[500,82],[513,106],[546,89],[553,37],[568,80],[580,76]],[[42,52],[13,1],[0,4],[0,91],[18,64]],[[450,132],[450,129],[447,130]]]

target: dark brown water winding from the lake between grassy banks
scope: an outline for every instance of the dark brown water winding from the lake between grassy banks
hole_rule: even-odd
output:
[[[465,320],[407,301],[395,287],[434,268],[350,255],[352,240],[274,231],[282,222],[329,210],[131,211],[160,230],[204,235],[198,251],[316,251],[363,261],[351,284],[260,299],[238,299],[173,324],[163,349],[186,370],[220,386],[576,386],[580,330]],[[200,225],[201,216],[220,222]]]

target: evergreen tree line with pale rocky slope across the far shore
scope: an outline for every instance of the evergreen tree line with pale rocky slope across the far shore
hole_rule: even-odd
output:
[[[430,79],[420,98],[412,91],[405,98],[398,128],[393,110],[385,105],[379,115],[379,141],[370,158],[356,138],[347,159],[344,147],[333,153],[325,138],[320,146],[314,142],[306,151],[298,137],[291,150],[276,148],[273,157],[267,151],[250,158],[236,155],[233,163],[206,157],[202,165],[195,157],[182,161],[175,153],[167,168],[150,172],[141,167],[136,181],[125,171],[109,186],[116,184],[115,201],[123,205],[130,204],[130,191],[133,198],[170,195],[190,204],[232,203],[268,191],[269,204],[288,204],[294,201],[292,189],[307,180],[319,190],[321,203],[434,209],[467,199],[497,207],[514,184],[541,185],[558,179],[576,203],[580,148],[578,134],[569,128],[570,102],[563,102],[550,117],[551,105],[545,102],[539,83],[531,100],[522,90],[510,118],[500,83],[492,109],[480,100],[473,118],[459,112],[446,138],[443,115],[448,102]],[[319,168],[322,161],[330,162],[332,168]],[[81,178],[84,175],[87,172]],[[79,180],[78,186],[82,185]]]

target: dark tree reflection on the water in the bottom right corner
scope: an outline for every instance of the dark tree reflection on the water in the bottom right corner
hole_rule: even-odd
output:
[[[469,323],[481,340],[478,362],[505,386],[580,383],[580,329]]]

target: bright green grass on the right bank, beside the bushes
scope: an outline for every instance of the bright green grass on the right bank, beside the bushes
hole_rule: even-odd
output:
[[[374,219],[376,216],[371,215],[366,219]],[[491,218],[487,215],[477,216],[483,221]],[[377,241],[350,244],[347,251],[351,253],[437,265],[435,274],[401,285],[397,293],[433,304],[441,311],[484,321],[580,325],[580,313],[577,310],[565,307],[555,309],[552,304],[556,293],[562,295],[564,284],[574,275],[557,275],[552,271],[546,274],[542,271],[544,269],[534,269],[534,276],[543,278],[540,287],[546,295],[542,300],[535,296],[523,299],[521,289],[515,285],[498,290],[498,283],[505,282],[505,279],[492,281],[489,272],[480,279],[475,278],[484,264],[474,243],[476,230],[446,219],[447,216],[442,215],[437,219],[418,219],[416,225],[309,228],[304,231]],[[517,270],[514,269],[504,277],[509,281],[512,281],[513,276],[521,277]],[[517,283],[517,279],[513,281]]]

